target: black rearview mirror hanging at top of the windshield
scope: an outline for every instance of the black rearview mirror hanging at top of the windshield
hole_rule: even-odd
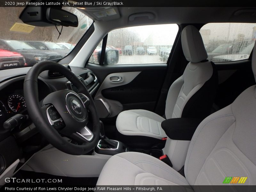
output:
[[[78,19],[77,16],[68,11],[49,7],[46,10],[46,19],[56,25],[62,25],[66,27],[77,27]]]

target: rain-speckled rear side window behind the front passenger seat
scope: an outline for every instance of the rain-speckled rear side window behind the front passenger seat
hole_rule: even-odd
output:
[[[208,23],[200,29],[208,60],[248,59],[256,39],[254,23]]]

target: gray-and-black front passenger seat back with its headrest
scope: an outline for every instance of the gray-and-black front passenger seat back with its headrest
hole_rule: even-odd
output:
[[[206,60],[207,53],[198,29],[186,26],[181,33],[184,55],[190,61],[171,85],[165,105],[169,118],[205,118],[210,114],[218,86],[218,74],[214,63]]]

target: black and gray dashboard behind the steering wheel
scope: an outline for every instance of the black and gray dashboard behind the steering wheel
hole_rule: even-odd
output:
[[[38,132],[27,111],[23,83],[30,68],[0,71],[0,174],[14,161],[23,158],[24,161],[20,162],[16,168],[18,170],[34,153],[49,144]],[[96,75],[86,68],[69,66],[67,68],[80,79],[93,96],[99,87]],[[38,100],[42,106],[48,94],[63,89],[77,91],[76,87],[59,73],[44,71],[39,75]],[[25,115],[27,119],[12,129],[4,129],[4,122],[18,114]]]

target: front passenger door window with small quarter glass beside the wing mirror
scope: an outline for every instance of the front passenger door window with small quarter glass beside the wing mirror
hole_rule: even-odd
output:
[[[178,30],[177,24],[115,29],[108,33],[106,51],[116,50],[116,65],[166,63]],[[99,64],[95,60],[95,53],[98,53],[98,58],[97,50],[101,51],[101,44],[94,50],[89,62]]]

